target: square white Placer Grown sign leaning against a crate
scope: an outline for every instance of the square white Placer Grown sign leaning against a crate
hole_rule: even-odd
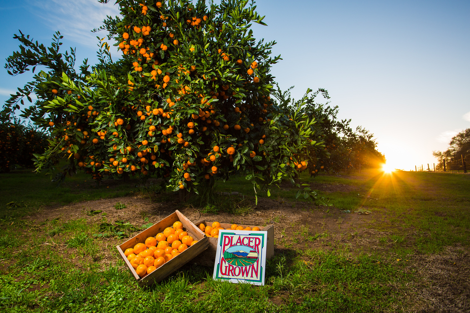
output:
[[[220,230],[213,279],[264,285],[266,231]]]

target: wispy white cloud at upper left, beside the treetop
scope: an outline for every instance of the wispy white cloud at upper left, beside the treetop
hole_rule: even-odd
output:
[[[107,33],[91,30],[102,26],[107,15],[119,15],[119,7],[99,3],[97,0],[29,0],[31,13],[45,20],[47,26],[59,30],[65,38],[85,46],[96,46],[96,36],[104,37]]]

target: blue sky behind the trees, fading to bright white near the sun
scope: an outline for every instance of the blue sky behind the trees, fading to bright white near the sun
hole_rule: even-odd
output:
[[[255,38],[275,40],[273,67],[282,89],[295,98],[325,88],[339,118],[352,118],[375,134],[388,162],[406,170],[436,162],[453,134],[470,127],[470,2],[259,0],[268,26]],[[21,29],[49,43],[58,30],[63,47],[77,47],[78,63],[96,60],[90,30],[113,4],[95,0],[0,0],[5,60]],[[117,55],[117,54],[116,54]],[[27,74],[24,74],[27,75]],[[0,100],[31,77],[0,71]]]

